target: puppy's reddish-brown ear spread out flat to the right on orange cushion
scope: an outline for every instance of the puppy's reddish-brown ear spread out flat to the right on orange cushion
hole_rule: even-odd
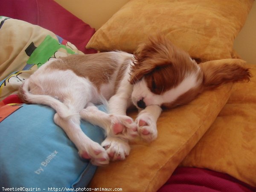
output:
[[[250,81],[250,70],[241,59],[221,59],[199,64],[204,74],[204,89],[218,87],[222,83]]]

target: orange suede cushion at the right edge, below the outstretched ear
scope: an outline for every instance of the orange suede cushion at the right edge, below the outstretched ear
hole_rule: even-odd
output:
[[[224,172],[256,186],[256,65],[253,78],[235,84],[227,104],[181,166]]]

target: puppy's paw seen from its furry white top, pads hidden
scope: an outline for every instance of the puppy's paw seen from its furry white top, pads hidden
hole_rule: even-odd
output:
[[[124,160],[131,150],[128,141],[122,140],[118,137],[108,136],[101,145],[107,151],[110,160],[113,161]]]

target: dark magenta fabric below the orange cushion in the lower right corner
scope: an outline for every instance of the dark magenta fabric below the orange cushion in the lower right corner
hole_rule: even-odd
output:
[[[178,167],[157,192],[255,192],[230,175],[209,169]]]

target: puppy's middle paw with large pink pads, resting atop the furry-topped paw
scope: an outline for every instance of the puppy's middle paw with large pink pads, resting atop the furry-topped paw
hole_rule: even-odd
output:
[[[120,137],[124,140],[133,140],[138,136],[137,124],[129,116],[125,115],[110,115],[111,119],[111,134],[115,137]]]

